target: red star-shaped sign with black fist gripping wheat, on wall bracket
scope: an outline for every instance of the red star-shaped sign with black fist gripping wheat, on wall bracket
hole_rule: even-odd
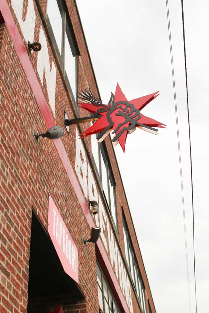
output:
[[[158,130],[152,126],[166,128],[164,127],[165,124],[155,121],[140,112],[159,95],[158,92],[128,101],[117,83],[115,94],[113,95],[111,92],[110,100],[106,105],[95,98],[91,90],[89,92],[87,90],[82,91],[78,96],[79,106],[93,115],[87,118],[65,120],[65,125],[95,121],[91,127],[80,134],[80,137],[99,133],[97,140],[101,142],[113,130],[113,145],[117,145],[119,142],[124,152],[127,134],[132,133],[136,127],[156,135],[158,135]]]

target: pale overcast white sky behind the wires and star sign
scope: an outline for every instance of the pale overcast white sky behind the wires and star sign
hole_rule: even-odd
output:
[[[76,2],[103,103],[115,92],[117,81],[128,100],[160,90],[142,113],[165,123],[167,129],[159,129],[158,136],[137,129],[127,137],[125,154],[119,145],[115,151],[156,311],[190,313],[165,0]],[[169,1],[169,9],[193,313],[191,174],[180,0]],[[198,313],[208,312],[208,9],[208,1],[184,0]]]

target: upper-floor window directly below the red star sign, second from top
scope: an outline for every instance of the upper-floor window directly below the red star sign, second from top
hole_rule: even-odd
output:
[[[115,228],[118,230],[117,209],[115,201],[115,180],[112,174],[109,158],[104,143],[97,142],[97,135],[91,135],[91,151],[96,164],[97,172],[101,178],[103,194],[112,216]]]

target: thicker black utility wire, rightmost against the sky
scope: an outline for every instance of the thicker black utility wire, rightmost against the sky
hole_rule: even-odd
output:
[[[195,267],[195,227],[194,227],[194,199],[193,199],[193,175],[192,175],[192,159],[191,159],[191,136],[190,136],[190,117],[189,117],[189,100],[188,100],[188,84],[187,84],[187,69],[186,69],[186,45],[185,45],[185,29],[184,29],[184,6],[181,0],[182,11],[182,27],[184,38],[184,63],[185,63],[185,78],[186,78],[186,99],[187,99],[187,114],[189,124],[189,146],[190,146],[190,165],[191,165],[191,197],[192,197],[192,221],[193,221],[193,254],[194,254],[194,276],[195,276],[195,303],[197,313],[197,293],[196,293],[196,267]]]

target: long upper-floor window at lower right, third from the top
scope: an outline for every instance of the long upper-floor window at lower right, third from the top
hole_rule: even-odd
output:
[[[123,236],[124,236],[126,261],[130,269],[131,277],[133,280],[133,284],[135,286],[136,293],[138,295],[138,299],[143,308],[143,312],[146,313],[147,310],[146,310],[146,302],[145,302],[144,283],[143,283],[142,276],[138,268],[137,259],[134,253],[133,245],[131,242],[131,238],[128,232],[128,227],[127,227],[124,216],[123,216]]]

